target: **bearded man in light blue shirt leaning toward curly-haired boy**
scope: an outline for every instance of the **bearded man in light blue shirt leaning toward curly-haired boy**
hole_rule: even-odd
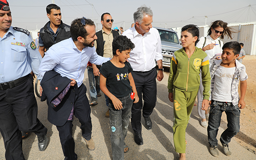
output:
[[[83,84],[84,71],[88,61],[101,65],[110,60],[99,56],[94,48],[94,41],[97,39],[94,22],[86,18],[77,18],[71,23],[71,38],[62,40],[54,44],[47,52],[40,64],[39,74],[43,77],[44,73],[54,70],[60,73],[62,77],[71,79],[69,90],[78,90],[77,99],[74,105],[63,111],[48,109],[48,120],[57,126],[61,140],[62,150],[65,159],[77,160],[77,154],[74,153],[74,139],[72,137],[72,120],[69,118],[75,115],[81,123],[82,135],[87,143],[89,150],[94,150],[95,145],[91,138],[91,108],[86,97],[86,87]],[[67,93],[68,95],[68,93]],[[64,97],[67,98],[68,96]],[[46,95],[47,96],[47,95]],[[63,100],[62,100],[63,101]],[[50,111],[50,114],[49,114]],[[68,114],[66,114],[69,112]],[[67,119],[56,120],[51,115],[69,115]]]

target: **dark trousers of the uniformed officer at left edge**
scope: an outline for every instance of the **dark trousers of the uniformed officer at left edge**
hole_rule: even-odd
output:
[[[37,119],[33,77],[19,86],[0,90],[0,132],[6,160],[24,160],[21,132],[46,135],[47,128]]]

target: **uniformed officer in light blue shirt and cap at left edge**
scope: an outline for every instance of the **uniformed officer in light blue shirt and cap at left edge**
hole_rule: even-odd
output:
[[[38,147],[47,146],[47,128],[37,119],[33,77],[42,57],[27,30],[12,27],[9,3],[0,0],[0,132],[6,160],[25,160],[21,131],[34,132]]]

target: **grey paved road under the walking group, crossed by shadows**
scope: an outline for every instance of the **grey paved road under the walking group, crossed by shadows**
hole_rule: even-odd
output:
[[[128,134],[125,139],[126,144],[130,147],[128,153],[125,153],[125,160],[177,160],[178,153],[175,153],[172,137],[173,124],[173,104],[168,100],[167,80],[168,73],[164,73],[165,77],[162,82],[158,82],[158,94],[155,110],[152,113],[151,119],[153,123],[152,130],[146,130],[142,126],[142,136],[144,145],[138,146],[133,140],[133,130],[131,126],[128,128]],[[88,88],[88,77],[85,74],[85,85]],[[87,96],[89,93],[87,94]],[[61,149],[61,143],[58,136],[58,131],[54,125],[47,121],[47,105],[46,102],[38,103],[38,118],[48,128],[48,146],[44,152],[38,151],[37,137],[34,133],[23,140],[24,156],[27,160],[64,160]],[[111,143],[109,119],[104,116],[107,111],[105,106],[104,96],[99,97],[98,105],[91,107],[91,118],[93,124],[92,138],[95,142],[96,149],[89,151],[82,138],[80,123],[74,119],[74,140],[75,152],[79,160],[111,160]],[[142,123],[144,119],[142,118]],[[226,126],[226,125],[222,125]],[[223,128],[219,128],[219,135],[223,132]],[[4,160],[4,145],[3,138],[0,137],[0,160]],[[239,145],[235,140],[230,142],[232,155],[227,157],[222,151],[218,158],[212,157],[209,153],[209,144],[207,140],[207,130],[199,124],[199,116],[196,107],[194,107],[191,119],[186,130],[187,160],[256,160],[256,155],[249,152]],[[219,142],[218,149],[221,150]]]

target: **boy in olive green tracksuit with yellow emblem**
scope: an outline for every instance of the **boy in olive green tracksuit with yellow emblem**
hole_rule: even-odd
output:
[[[200,76],[204,87],[202,110],[209,107],[210,72],[207,54],[195,47],[199,41],[199,29],[193,24],[182,27],[182,49],[172,57],[168,79],[169,100],[174,102],[173,140],[179,160],[185,160],[185,130],[199,90]]]

